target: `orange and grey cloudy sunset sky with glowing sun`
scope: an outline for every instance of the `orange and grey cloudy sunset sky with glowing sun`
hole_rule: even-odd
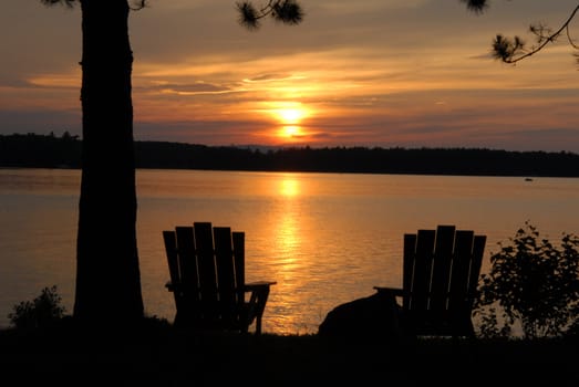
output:
[[[135,139],[579,153],[568,42],[515,66],[489,54],[577,3],[301,0],[300,25],[248,31],[234,0],[149,0],[130,17]],[[0,134],[80,135],[80,8],[2,0],[0,32]]]

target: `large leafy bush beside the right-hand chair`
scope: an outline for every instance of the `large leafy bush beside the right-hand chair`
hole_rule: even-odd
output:
[[[510,244],[490,257],[474,313],[479,334],[505,337],[520,323],[526,338],[560,336],[579,325],[579,239],[564,233],[560,248],[539,239],[528,221]]]

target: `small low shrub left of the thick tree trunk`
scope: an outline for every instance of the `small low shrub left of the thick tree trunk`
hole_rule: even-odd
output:
[[[46,326],[64,316],[65,308],[61,302],[56,285],[44,287],[34,300],[14,305],[8,318],[17,328]]]

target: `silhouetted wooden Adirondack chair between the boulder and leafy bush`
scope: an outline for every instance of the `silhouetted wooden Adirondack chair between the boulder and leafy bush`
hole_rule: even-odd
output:
[[[404,234],[402,289],[374,286],[402,297],[404,333],[474,337],[472,308],[485,243],[486,236],[454,226]]]

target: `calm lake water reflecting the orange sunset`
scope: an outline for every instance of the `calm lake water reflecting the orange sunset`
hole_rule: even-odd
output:
[[[79,187],[79,170],[0,169],[0,326],[52,284],[72,312]],[[146,312],[175,313],[162,231],[211,221],[246,231],[248,281],[277,281],[263,331],[278,334],[314,333],[332,307],[400,285],[404,232],[474,229],[485,260],[526,220],[554,242],[579,233],[579,179],[138,170],[137,194]]]

